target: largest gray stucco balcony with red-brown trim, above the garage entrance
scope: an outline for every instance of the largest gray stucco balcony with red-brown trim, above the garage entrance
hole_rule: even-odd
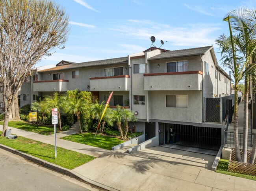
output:
[[[168,72],[144,74],[145,90],[202,90],[202,72]]]

